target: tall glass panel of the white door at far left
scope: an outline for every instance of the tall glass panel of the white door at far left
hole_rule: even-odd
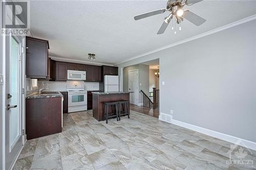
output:
[[[10,109],[10,136],[11,136],[11,146],[19,137],[19,48],[18,42],[12,37],[11,38],[11,58],[10,58],[10,106],[17,105],[16,108]]]

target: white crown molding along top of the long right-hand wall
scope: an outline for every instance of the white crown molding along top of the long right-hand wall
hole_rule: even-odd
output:
[[[202,33],[202,34],[199,34],[199,35],[196,35],[196,36],[193,36],[193,37],[190,37],[190,38],[187,38],[187,39],[184,39],[184,40],[181,40],[181,41],[178,41],[178,42],[175,42],[175,43],[166,45],[166,46],[163,46],[163,47],[161,47],[161,48],[157,48],[156,50],[149,51],[149,52],[147,52],[147,53],[144,53],[144,54],[141,54],[141,55],[132,57],[132,58],[130,58],[130,59],[128,59],[128,60],[125,60],[125,61],[122,61],[122,62],[120,62],[120,63],[115,63],[114,65],[122,64],[122,63],[125,63],[125,62],[127,62],[127,61],[131,61],[131,60],[134,60],[134,59],[143,57],[143,56],[147,56],[147,55],[150,55],[150,54],[153,54],[153,53],[156,53],[156,52],[165,50],[166,48],[170,48],[170,47],[172,47],[172,46],[176,46],[176,45],[179,45],[179,44],[183,44],[183,43],[185,43],[185,42],[188,42],[188,41],[192,41],[192,40],[195,40],[195,39],[198,39],[198,38],[201,38],[201,37],[205,37],[205,36],[208,36],[208,35],[211,35],[211,34],[214,34],[214,33],[217,33],[217,32],[223,31],[223,30],[226,30],[226,29],[229,29],[229,28],[231,28],[231,27],[235,27],[235,26],[241,25],[242,23],[249,22],[249,21],[254,20],[254,19],[256,19],[256,14],[255,14],[255,15],[251,15],[251,16],[249,16],[249,17],[246,17],[246,18],[244,18],[244,19],[241,19],[241,20],[238,20],[238,21],[229,23],[228,25],[219,27],[219,28],[217,28],[217,29],[210,30],[210,31],[207,31],[207,32],[205,32],[205,33]]]

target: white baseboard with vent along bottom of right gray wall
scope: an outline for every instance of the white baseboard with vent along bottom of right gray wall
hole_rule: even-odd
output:
[[[171,123],[171,124],[174,124],[174,125],[177,125],[177,126],[189,129],[189,130],[193,130],[193,131],[196,131],[199,133],[203,133],[205,135],[212,136],[212,137],[215,137],[215,138],[218,138],[221,140],[225,140],[230,143],[238,144],[238,145],[241,145],[242,147],[246,147],[246,148],[256,151],[256,142],[249,141],[246,139],[241,139],[239,137],[227,135],[224,133],[212,131],[212,130],[205,129],[205,128],[202,128],[202,127],[199,127],[196,125],[191,125],[191,124],[187,124],[184,122],[180,122],[179,120],[173,119],[173,116],[170,114],[160,113],[159,120],[162,120],[164,122]]]

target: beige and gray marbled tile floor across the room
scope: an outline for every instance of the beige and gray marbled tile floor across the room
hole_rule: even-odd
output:
[[[109,124],[92,111],[64,114],[62,133],[28,140],[14,169],[253,169],[228,167],[230,144],[131,110]],[[243,152],[243,153],[244,153]]]

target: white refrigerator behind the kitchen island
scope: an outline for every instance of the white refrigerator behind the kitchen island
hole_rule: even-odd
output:
[[[119,76],[104,76],[104,92],[119,91]]]

